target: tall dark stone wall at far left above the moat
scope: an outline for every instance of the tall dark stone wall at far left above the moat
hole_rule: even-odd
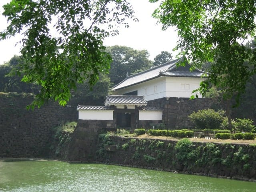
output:
[[[64,122],[78,120],[77,100],[69,107],[48,102],[27,110],[30,94],[0,93],[0,156],[47,157],[52,129]]]

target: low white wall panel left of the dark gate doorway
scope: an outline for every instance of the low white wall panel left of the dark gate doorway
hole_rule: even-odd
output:
[[[79,110],[81,120],[113,120],[113,110]]]

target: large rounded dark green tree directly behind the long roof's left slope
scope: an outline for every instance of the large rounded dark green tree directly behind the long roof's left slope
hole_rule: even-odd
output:
[[[111,46],[106,48],[113,61],[110,64],[110,81],[118,84],[126,78],[126,75],[146,70],[152,66],[146,50],[134,50],[126,46]]]

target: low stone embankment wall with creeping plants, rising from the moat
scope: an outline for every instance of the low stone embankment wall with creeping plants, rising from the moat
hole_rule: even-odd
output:
[[[110,145],[108,145],[110,144]],[[117,136],[101,137],[98,162],[256,182],[256,148]]]

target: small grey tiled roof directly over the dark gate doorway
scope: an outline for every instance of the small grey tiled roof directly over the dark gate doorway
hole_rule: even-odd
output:
[[[111,105],[137,105],[146,106],[148,102],[144,96],[108,95],[105,106]]]

